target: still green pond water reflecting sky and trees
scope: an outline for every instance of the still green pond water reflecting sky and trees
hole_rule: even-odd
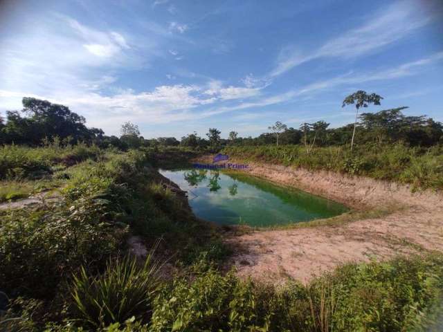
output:
[[[188,192],[190,206],[197,216],[219,225],[286,225],[347,211],[340,203],[236,172],[208,169],[159,169],[159,172]]]

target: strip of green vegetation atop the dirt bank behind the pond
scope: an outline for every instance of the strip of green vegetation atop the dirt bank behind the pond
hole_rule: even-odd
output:
[[[443,189],[443,147],[440,145],[430,148],[361,145],[352,154],[347,147],[316,147],[307,154],[301,145],[229,146],[223,152],[241,160],[397,181],[413,189]]]

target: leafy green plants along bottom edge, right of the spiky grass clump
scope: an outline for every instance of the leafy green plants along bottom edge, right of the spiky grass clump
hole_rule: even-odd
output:
[[[152,331],[406,331],[441,308],[437,255],[348,264],[306,286],[241,281],[210,268],[157,297]]]

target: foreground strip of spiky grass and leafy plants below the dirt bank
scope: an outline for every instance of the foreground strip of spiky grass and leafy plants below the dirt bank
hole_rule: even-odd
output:
[[[46,331],[438,331],[443,309],[437,254],[345,264],[308,284],[283,286],[224,275],[204,261],[157,282],[149,266],[126,259],[100,275],[81,272],[72,281],[68,322],[51,322]],[[3,326],[38,326],[38,302],[17,307],[3,315]]]

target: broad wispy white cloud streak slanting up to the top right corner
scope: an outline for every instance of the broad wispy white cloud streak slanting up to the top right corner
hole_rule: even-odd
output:
[[[330,39],[317,50],[304,53],[297,48],[284,48],[278,57],[277,66],[270,75],[281,75],[295,66],[320,57],[348,59],[381,50],[404,39],[433,19],[433,15],[424,12],[422,8],[426,6],[417,6],[413,1],[397,1],[367,19],[363,26]]]

